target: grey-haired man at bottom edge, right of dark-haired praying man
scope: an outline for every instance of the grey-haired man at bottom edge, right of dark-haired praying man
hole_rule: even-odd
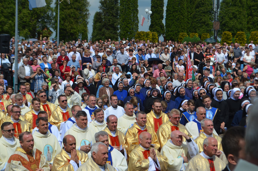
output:
[[[116,171],[111,164],[107,164],[108,158],[106,144],[102,142],[94,143],[91,146],[91,158],[82,164],[77,171]]]

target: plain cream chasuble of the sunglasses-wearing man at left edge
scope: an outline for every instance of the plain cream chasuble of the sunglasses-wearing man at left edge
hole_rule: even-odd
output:
[[[0,170],[4,168],[5,163],[7,163],[8,159],[15,152],[16,148],[20,146],[18,139],[13,137],[13,140],[15,141],[15,143],[10,144],[4,139],[4,137],[0,138]]]

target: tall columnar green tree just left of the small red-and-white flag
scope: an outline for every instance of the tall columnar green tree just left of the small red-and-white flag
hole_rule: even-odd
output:
[[[120,1],[119,37],[133,39],[138,31],[138,0]]]

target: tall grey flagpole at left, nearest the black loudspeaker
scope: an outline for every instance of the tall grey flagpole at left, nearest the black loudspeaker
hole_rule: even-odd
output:
[[[18,93],[18,0],[15,3],[14,92]]]

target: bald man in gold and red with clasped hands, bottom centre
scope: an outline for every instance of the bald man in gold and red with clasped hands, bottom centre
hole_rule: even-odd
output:
[[[148,132],[140,134],[140,144],[129,155],[128,171],[167,170],[167,158],[150,147],[151,138]]]

